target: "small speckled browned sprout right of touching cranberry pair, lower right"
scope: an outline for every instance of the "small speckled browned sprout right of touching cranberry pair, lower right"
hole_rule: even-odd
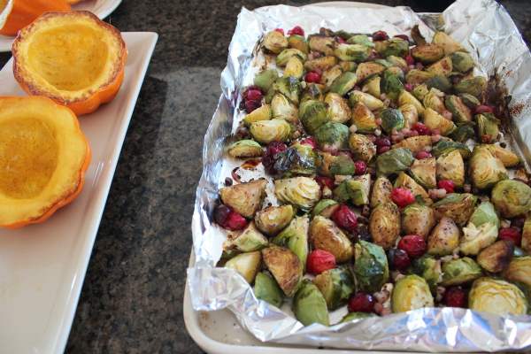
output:
[[[437,256],[452,254],[459,245],[459,227],[450,219],[443,217],[427,237],[427,253]]]

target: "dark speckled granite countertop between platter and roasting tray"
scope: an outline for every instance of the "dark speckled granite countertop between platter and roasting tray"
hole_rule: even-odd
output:
[[[273,0],[126,0],[108,21],[159,36],[119,158],[67,344],[69,353],[201,353],[182,297],[203,136],[237,13]],[[309,4],[315,1],[288,1]],[[437,1],[376,1],[442,10]],[[443,2],[441,2],[443,3]],[[429,4],[429,5],[427,5]],[[531,2],[501,4],[531,41]],[[10,56],[0,54],[4,65]]]

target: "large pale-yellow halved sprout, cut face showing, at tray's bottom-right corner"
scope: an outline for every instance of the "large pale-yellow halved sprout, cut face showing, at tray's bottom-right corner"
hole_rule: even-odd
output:
[[[474,311],[500,316],[527,313],[526,296],[516,285],[494,278],[480,278],[473,282],[468,295],[468,307]]]

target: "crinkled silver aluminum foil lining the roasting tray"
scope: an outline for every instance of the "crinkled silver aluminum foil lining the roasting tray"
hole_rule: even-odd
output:
[[[373,33],[383,29],[390,35],[409,33],[419,24],[430,38],[432,28],[443,27],[463,43],[485,75],[497,74],[512,96],[511,133],[515,148],[529,163],[531,146],[531,58],[517,27],[504,8],[493,0],[459,0],[443,14],[417,14],[407,7],[359,8],[348,3],[290,7],[263,7],[253,12],[242,9],[228,52],[227,67],[221,74],[222,96],[204,137],[204,172],[196,192],[192,221],[194,266],[188,270],[194,310],[227,308],[242,327],[260,341],[341,349],[497,351],[531,348],[531,317],[499,317],[465,309],[421,309],[404,314],[363,319],[323,327],[304,327],[289,310],[257,300],[249,284],[235,271],[216,268],[226,235],[212,225],[210,215],[219,188],[235,166],[224,154],[227,136],[235,131],[241,113],[240,89],[249,85],[260,65],[257,43],[276,27],[302,26],[307,33],[319,27]],[[331,322],[341,319],[345,309],[331,313]]]

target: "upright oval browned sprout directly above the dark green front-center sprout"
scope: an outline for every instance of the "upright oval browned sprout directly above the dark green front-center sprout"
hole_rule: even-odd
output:
[[[389,202],[376,205],[369,219],[369,232],[374,243],[389,250],[395,246],[400,228],[400,211],[396,204]]]

